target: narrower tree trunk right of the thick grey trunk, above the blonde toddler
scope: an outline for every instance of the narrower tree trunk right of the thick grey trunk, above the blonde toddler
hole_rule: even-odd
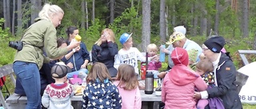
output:
[[[165,10],[166,10],[166,0],[160,0],[160,37],[161,43],[166,42],[166,17],[165,17]]]

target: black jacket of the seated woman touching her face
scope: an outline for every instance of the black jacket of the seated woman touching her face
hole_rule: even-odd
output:
[[[114,68],[114,56],[118,54],[118,45],[116,43],[104,42],[102,45],[94,45],[91,50],[93,63],[102,62],[106,68]]]

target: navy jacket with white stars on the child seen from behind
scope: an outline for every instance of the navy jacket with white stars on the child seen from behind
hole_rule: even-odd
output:
[[[82,95],[82,108],[121,109],[122,98],[118,88],[109,80],[89,82]]]

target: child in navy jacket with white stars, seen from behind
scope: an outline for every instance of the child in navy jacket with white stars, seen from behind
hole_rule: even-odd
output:
[[[118,88],[112,84],[106,65],[95,62],[86,77],[86,89],[82,95],[82,108],[122,107]]]

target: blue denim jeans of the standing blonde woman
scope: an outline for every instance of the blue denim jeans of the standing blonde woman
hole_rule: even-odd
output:
[[[29,62],[15,61],[14,73],[26,93],[26,109],[41,109],[41,85],[38,65]]]

